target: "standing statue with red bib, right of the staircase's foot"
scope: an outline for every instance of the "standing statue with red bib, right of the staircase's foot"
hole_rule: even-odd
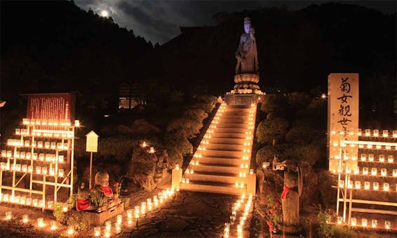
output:
[[[286,169],[285,169],[286,168]],[[303,190],[301,168],[292,160],[278,162],[273,159],[273,171],[284,171],[284,189],[281,194],[282,231],[287,233],[301,232],[299,222],[299,197]]]

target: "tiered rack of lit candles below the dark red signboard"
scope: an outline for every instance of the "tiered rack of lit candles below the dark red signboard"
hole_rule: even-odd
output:
[[[23,119],[22,126],[15,128],[20,138],[8,139],[8,150],[1,150],[0,201],[53,209],[60,188],[73,192],[74,129],[79,121]],[[11,184],[6,173],[12,174]],[[51,201],[46,201],[48,186],[53,186]]]

